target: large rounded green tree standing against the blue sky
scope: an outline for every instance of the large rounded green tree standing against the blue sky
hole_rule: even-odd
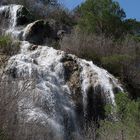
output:
[[[86,0],[76,10],[79,27],[88,33],[120,37],[123,35],[125,12],[112,0]]]

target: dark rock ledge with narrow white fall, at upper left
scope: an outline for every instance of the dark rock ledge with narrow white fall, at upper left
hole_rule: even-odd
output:
[[[0,7],[0,25],[11,28],[31,22],[30,12],[22,5],[5,5]]]

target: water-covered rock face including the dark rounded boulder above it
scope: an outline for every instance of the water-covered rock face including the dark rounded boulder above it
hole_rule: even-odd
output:
[[[21,6],[13,8],[16,11],[14,15],[11,13],[15,18],[14,26],[10,23],[11,34],[15,36],[15,25],[18,25],[15,15]],[[24,94],[19,92],[17,122],[43,129],[43,134],[29,129],[24,139],[34,134],[40,135],[40,140],[46,140],[46,135],[51,140],[71,140],[75,136],[82,139],[81,130],[85,122],[102,118],[104,105],[110,103],[115,106],[115,93],[123,89],[117,79],[92,62],[29,43],[42,42],[42,38],[49,35],[49,30],[44,31],[46,26],[48,24],[41,20],[18,30],[21,34],[17,37],[21,35],[27,41],[21,41],[20,53],[9,59],[5,70],[6,78],[19,80],[17,86],[20,89],[25,81],[33,83],[33,86],[27,84],[29,90]]]

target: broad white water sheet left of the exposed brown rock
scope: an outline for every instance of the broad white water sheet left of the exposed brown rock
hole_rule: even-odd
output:
[[[77,131],[74,104],[69,97],[71,92],[66,85],[64,67],[60,62],[65,53],[47,46],[38,46],[35,51],[29,51],[30,46],[28,42],[22,42],[21,53],[13,56],[7,66],[7,69],[16,68],[17,78],[36,76],[35,91],[30,91],[30,96],[37,96],[36,101],[24,97],[19,102],[21,116],[24,114],[27,122],[49,124],[55,134],[62,136],[66,129],[62,125],[66,116],[69,127]],[[36,95],[38,92],[39,95]],[[36,104],[45,106],[48,111]]]

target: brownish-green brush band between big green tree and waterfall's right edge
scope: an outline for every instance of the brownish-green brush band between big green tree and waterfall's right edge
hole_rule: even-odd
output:
[[[121,79],[134,98],[140,97],[140,42],[132,36],[114,40],[75,28],[60,42],[61,49],[93,61]]]

